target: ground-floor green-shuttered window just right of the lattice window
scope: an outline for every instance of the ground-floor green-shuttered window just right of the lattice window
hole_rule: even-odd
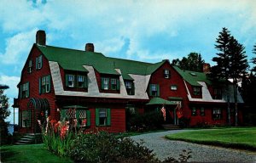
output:
[[[110,126],[110,109],[96,109],[96,126]]]

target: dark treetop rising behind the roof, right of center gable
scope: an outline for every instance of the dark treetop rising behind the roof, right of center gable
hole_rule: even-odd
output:
[[[201,53],[189,53],[188,57],[183,59],[173,59],[172,65],[177,65],[182,70],[193,70],[202,72],[205,60],[201,58]]]

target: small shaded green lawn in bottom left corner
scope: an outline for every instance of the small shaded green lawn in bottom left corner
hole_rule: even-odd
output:
[[[1,146],[0,149],[0,162],[73,162],[69,158],[61,158],[53,155],[48,150],[44,149],[43,144]]]

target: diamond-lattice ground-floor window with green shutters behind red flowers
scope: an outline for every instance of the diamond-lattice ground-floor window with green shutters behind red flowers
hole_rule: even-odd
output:
[[[77,120],[77,126],[90,126],[90,110],[61,110],[61,121]]]

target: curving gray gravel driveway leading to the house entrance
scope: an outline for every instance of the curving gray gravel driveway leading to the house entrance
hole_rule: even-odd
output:
[[[209,145],[186,143],[183,141],[171,141],[165,138],[167,134],[186,132],[189,130],[174,130],[168,132],[154,132],[131,137],[140,142],[143,139],[148,149],[154,149],[154,153],[160,160],[172,156],[178,158],[183,149],[192,150],[192,158],[195,162],[256,162],[256,152],[225,149]]]

